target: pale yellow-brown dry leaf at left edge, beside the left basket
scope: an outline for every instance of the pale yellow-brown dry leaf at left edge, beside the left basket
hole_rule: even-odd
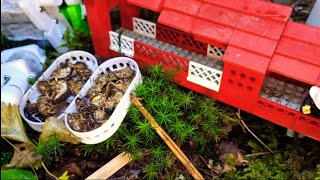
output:
[[[18,109],[17,105],[1,103],[1,137],[32,144]]]

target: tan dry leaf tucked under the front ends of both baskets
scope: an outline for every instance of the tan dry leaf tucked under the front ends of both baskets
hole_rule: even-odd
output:
[[[46,142],[51,136],[57,136],[63,142],[80,143],[80,139],[73,135],[68,128],[56,117],[49,117],[44,123],[39,141]]]

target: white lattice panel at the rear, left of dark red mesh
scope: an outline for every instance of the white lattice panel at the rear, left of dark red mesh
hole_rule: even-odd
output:
[[[148,36],[151,38],[156,38],[156,23],[149,22],[140,18],[133,18],[133,31]]]

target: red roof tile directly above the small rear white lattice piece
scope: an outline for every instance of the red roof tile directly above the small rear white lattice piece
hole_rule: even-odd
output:
[[[214,24],[202,19],[196,19],[191,33],[195,35],[196,39],[208,44],[213,44],[214,42],[228,44],[233,31],[233,29],[225,26]]]

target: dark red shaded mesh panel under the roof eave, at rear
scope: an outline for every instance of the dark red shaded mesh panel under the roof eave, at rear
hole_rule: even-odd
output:
[[[191,35],[157,24],[157,39],[203,55],[207,54],[208,44],[195,40]]]

